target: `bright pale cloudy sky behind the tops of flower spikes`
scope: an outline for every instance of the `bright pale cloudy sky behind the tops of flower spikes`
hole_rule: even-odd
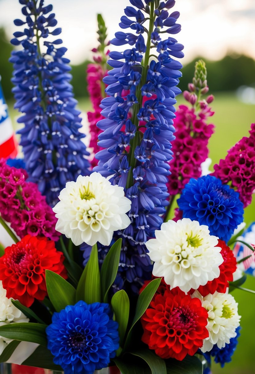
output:
[[[49,4],[46,0],[45,4]],[[109,39],[120,31],[123,9],[128,0],[52,0],[58,26],[62,27],[63,45],[73,64],[91,58],[96,40],[96,14],[101,13],[108,27]],[[21,18],[18,0],[0,0],[0,27],[11,37],[19,30],[14,18]],[[220,59],[227,52],[244,53],[255,58],[255,0],[176,0],[182,31],[176,39],[184,45],[185,60],[196,56]],[[112,46],[111,48],[114,48]],[[123,47],[122,47],[123,48]]]

